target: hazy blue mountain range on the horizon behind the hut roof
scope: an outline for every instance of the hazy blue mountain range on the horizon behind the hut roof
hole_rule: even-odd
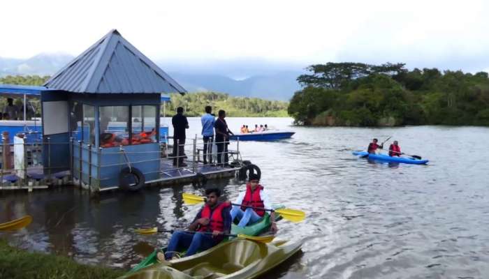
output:
[[[71,61],[69,54],[38,54],[29,59],[0,57],[0,77],[52,75]],[[156,61],[189,92],[216,91],[231,96],[289,100],[300,90],[295,80],[303,66],[263,59],[228,61]]]

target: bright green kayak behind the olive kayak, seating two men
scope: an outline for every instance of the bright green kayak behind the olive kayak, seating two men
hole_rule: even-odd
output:
[[[273,207],[274,209],[281,209],[284,206],[273,206]],[[231,225],[231,234],[246,234],[249,236],[257,236],[258,234],[266,232],[268,231],[268,229],[270,229],[270,225],[271,225],[269,216],[270,215],[268,215],[268,213],[265,213],[265,215],[263,216],[263,218],[261,218],[260,221],[246,227],[238,227],[238,225],[233,224]],[[282,216],[279,216],[279,214],[275,216],[275,220],[281,220],[281,219]],[[149,256],[143,259],[142,262],[140,262],[137,266],[134,266],[133,269],[129,271],[129,273],[136,272],[140,269],[143,269],[147,266],[151,266],[152,264],[157,263],[158,259],[156,258],[156,254],[158,252],[163,252],[165,249],[166,248],[159,248],[154,250],[151,254],[149,254]]]

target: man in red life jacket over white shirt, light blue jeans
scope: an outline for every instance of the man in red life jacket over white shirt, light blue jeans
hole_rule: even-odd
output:
[[[270,198],[263,186],[259,183],[258,176],[256,174],[249,174],[249,183],[246,186],[246,191],[240,193],[238,199],[234,202],[235,204],[242,204],[242,206],[233,206],[231,209],[231,221],[234,218],[238,218],[240,223],[238,226],[245,227],[248,224],[253,224],[258,222],[263,215],[265,215],[264,210],[251,209],[243,206],[254,206],[261,209],[272,209],[272,203]],[[272,226],[270,230],[273,234],[277,233],[277,224],[275,223],[275,212],[270,212],[270,223]]]

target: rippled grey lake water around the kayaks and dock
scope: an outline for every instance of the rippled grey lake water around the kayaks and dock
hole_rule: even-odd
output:
[[[281,221],[279,237],[304,241],[302,254],[268,278],[486,278],[489,274],[489,128],[302,128],[291,119],[228,119],[294,130],[291,140],[241,142],[261,167],[274,202],[307,212],[300,224]],[[187,134],[200,131],[190,119]],[[427,166],[368,163],[351,155],[372,137],[393,135],[402,151]],[[228,198],[244,185],[210,181]],[[77,188],[0,194],[0,221],[31,214],[34,223],[12,243],[69,255],[78,262],[129,269],[163,246],[168,234],[139,236],[133,227],[184,227],[198,206],[183,206],[189,185],[103,193]]]

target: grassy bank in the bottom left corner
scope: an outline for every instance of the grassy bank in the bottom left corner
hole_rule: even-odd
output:
[[[78,264],[73,259],[27,252],[0,239],[0,278],[9,279],[105,279],[122,276],[124,271]]]

